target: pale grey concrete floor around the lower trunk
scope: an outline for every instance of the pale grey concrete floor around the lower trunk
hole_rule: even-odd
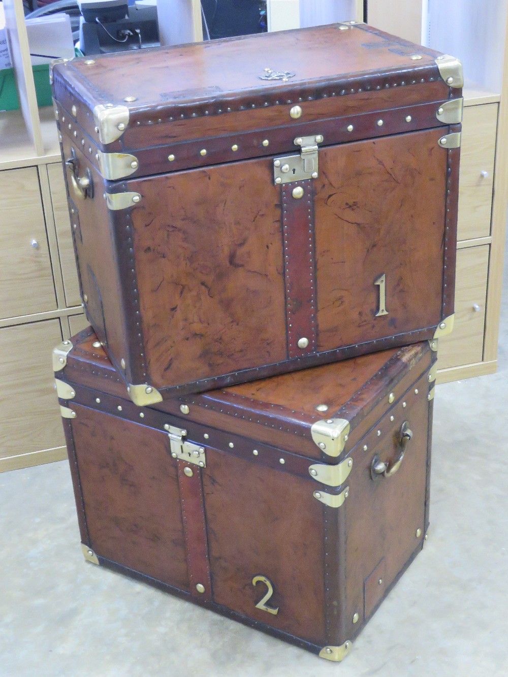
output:
[[[0,675],[508,676],[508,284],[499,371],[438,386],[429,539],[341,664],[85,563],[66,462],[0,475]]]

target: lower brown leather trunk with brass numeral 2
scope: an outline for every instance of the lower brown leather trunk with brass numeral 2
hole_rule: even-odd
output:
[[[429,523],[427,341],[142,408],[91,330],[54,365],[86,559],[350,651]]]

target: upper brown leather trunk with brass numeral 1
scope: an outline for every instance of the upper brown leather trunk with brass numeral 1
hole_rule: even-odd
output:
[[[337,24],[52,78],[85,312],[135,403],[451,330],[458,60]]]

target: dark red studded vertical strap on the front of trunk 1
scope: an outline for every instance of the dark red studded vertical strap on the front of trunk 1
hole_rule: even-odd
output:
[[[312,179],[281,185],[288,357],[317,350]],[[296,190],[295,190],[296,189]],[[303,190],[303,196],[301,191]],[[299,347],[305,343],[308,345]]]

